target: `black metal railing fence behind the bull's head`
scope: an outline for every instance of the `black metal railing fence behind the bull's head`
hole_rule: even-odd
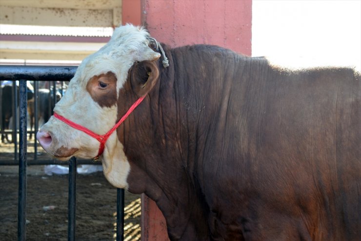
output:
[[[59,164],[59,162],[50,159],[38,158],[36,132],[38,131],[38,90],[39,83],[49,81],[49,93],[53,91],[49,102],[57,102],[57,86],[54,80],[60,82],[61,92],[63,92],[63,82],[69,81],[75,74],[76,66],[0,66],[0,86],[2,81],[12,81],[12,131],[3,130],[2,115],[2,88],[0,88],[0,133],[11,134],[14,142],[14,158],[1,159],[0,165],[19,165],[19,202],[18,202],[18,240],[24,241],[26,239],[26,167],[27,165],[49,165]],[[19,81],[19,87],[16,82]],[[35,107],[35,122],[34,131],[34,155],[29,158],[27,153],[27,81],[34,81],[34,107]],[[18,96],[19,89],[19,96]],[[58,89],[59,90],[59,89]],[[49,94],[49,98],[50,98]],[[18,103],[19,97],[19,103]],[[17,106],[19,104],[19,116],[17,113]],[[47,111],[52,111],[53,107]],[[50,114],[50,113],[49,113]],[[50,115],[49,115],[50,116]],[[17,119],[19,119],[19,128],[17,127]],[[18,131],[19,129],[19,131]],[[18,143],[19,134],[19,143]],[[17,146],[19,144],[19,151]],[[29,162],[28,162],[29,161]],[[92,160],[77,160],[71,158],[69,160],[69,189],[68,189],[68,241],[75,240],[76,232],[76,176],[77,164],[94,164]],[[124,190],[117,189],[117,241],[122,241],[124,236]]]

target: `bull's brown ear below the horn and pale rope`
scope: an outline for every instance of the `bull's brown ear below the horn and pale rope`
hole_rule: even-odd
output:
[[[130,83],[134,92],[140,96],[146,95],[157,83],[159,68],[155,61],[142,61],[134,64],[130,73]]]

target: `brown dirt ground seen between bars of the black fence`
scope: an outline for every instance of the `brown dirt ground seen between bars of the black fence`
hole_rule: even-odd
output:
[[[13,148],[0,143],[0,161],[13,158]],[[28,152],[34,156],[31,148]],[[18,169],[0,165],[1,241],[17,240]],[[27,168],[26,240],[67,241],[68,175],[49,176],[43,170],[43,165]],[[114,241],[117,189],[102,172],[78,174],[76,188],[76,240]],[[126,241],[140,240],[140,195],[125,192],[124,227]]]

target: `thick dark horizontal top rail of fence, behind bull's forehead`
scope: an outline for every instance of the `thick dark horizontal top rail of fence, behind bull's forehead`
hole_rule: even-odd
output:
[[[77,66],[1,66],[0,80],[69,81]]]

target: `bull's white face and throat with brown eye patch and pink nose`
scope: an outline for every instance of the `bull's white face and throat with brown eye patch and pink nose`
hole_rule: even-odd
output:
[[[117,99],[128,70],[135,62],[154,61],[160,53],[148,44],[149,33],[140,27],[116,28],[108,44],[88,56],[77,69],[69,87],[54,111],[95,133],[105,134],[117,121]],[[53,157],[93,158],[99,141],[52,116],[37,134],[40,145]],[[102,155],[104,174],[120,188],[126,188],[129,163],[123,146],[113,132]]]

